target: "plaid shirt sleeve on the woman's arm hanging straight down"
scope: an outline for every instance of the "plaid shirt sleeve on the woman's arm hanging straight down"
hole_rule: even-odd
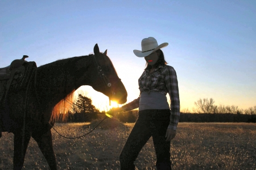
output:
[[[176,130],[180,118],[180,98],[177,74],[174,68],[167,67],[167,73],[164,77],[164,82],[166,84],[166,88],[171,99],[170,125],[168,126],[168,128]]]

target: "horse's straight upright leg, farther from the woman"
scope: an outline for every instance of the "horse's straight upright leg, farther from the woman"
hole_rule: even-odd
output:
[[[24,134],[24,141],[22,139],[22,132],[14,134],[14,156],[13,156],[13,169],[20,170],[24,164],[24,158],[27,151],[28,143],[30,142],[31,135]],[[23,143],[23,144],[22,144]]]

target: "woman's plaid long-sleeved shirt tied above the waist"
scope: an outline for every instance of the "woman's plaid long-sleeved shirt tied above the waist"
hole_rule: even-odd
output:
[[[154,72],[144,71],[139,78],[139,90],[141,92],[159,92],[164,95],[169,93],[171,99],[171,116],[168,128],[176,130],[180,118],[180,99],[177,75],[170,65],[159,65]],[[139,107],[139,97],[122,106],[124,111]]]

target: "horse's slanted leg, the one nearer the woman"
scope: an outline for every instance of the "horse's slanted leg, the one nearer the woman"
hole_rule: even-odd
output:
[[[42,151],[44,157],[46,157],[47,163],[51,170],[57,169],[56,157],[52,147],[52,133],[48,130],[43,135],[33,135],[32,137],[38,143],[40,150]]]

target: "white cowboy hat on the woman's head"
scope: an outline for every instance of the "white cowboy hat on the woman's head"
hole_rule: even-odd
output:
[[[155,38],[148,37],[148,38],[144,38],[141,41],[142,51],[134,49],[133,52],[137,57],[146,57],[146,56],[150,55],[151,53],[155,52],[156,50],[166,47],[167,45],[168,45],[168,43],[163,43],[163,44],[158,45],[158,42],[156,42]]]

